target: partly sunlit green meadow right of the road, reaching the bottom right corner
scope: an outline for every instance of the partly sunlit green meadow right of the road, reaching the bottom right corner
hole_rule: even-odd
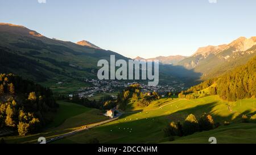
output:
[[[130,109],[136,111],[127,112],[118,120],[53,143],[87,143],[93,138],[97,138],[100,143],[209,143],[210,136],[220,136],[220,143],[242,143],[245,142],[246,135],[251,136],[248,141],[250,143],[256,136],[256,124],[253,123],[256,114],[255,99],[227,102],[214,95],[191,100],[162,98],[158,101],[155,100],[150,106],[142,109],[136,107],[136,103],[129,103],[129,106],[133,107]],[[164,104],[166,106],[163,106]],[[220,123],[221,126],[211,131],[175,137],[175,141],[171,142],[164,137],[163,129],[168,123],[183,122],[189,114],[199,118],[204,112],[212,115],[214,122]],[[241,123],[243,114],[252,118],[250,123]],[[224,125],[225,121],[230,122],[230,125]],[[238,132],[243,134],[237,136]],[[254,141],[256,143],[256,140]]]

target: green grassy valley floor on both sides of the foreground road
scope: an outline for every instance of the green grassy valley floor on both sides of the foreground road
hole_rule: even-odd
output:
[[[46,130],[24,137],[5,137],[7,143],[36,143],[38,137],[53,137],[67,134],[82,125],[108,120],[101,111],[74,103],[59,101],[60,108],[54,122]],[[209,137],[216,137],[217,143],[256,143],[256,99],[226,102],[217,95],[199,99],[162,98],[154,100],[148,107],[129,103],[127,110],[118,120],[98,127],[77,132],[51,143],[88,143],[94,138],[100,143],[209,143]],[[183,122],[189,115],[199,118],[204,112],[212,115],[214,122],[222,124],[211,131],[197,132],[168,141],[163,129],[170,122]],[[241,116],[251,117],[250,123],[241,123]],[[223,125],[224,121],[230,125]],[[238,134],[239,133],[239,134]]]

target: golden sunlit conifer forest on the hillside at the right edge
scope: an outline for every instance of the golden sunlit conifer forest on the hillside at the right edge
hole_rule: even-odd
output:
[[[215,85],[214,85],[215,84]],[[209,87],[209,94],[218,94],[222,99],[236,101],[244,98],[255,98],[256,95],[256,57],[247,64],[241,65],[225,75],[212,78],[193,86],[187,91],[181,91],[180,97],[197,93]]]

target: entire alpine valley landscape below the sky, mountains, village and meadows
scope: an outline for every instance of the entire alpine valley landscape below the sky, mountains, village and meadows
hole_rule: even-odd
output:
[[[0,143],[256,143],[256,37],[148,58],[158,86],[98,79],[111,55],[0,23]]]

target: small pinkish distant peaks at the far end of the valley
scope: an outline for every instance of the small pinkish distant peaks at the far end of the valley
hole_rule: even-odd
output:
[[[158,56],[158,57],[154,57],[154,58],[147,58],[147,60],[159,60],[159,62],[161,62],[162,64],[168,64],[168,65],[175,65],[177,64],[177,62],[183,60],[184,58],[186,58],[185,56],[180,56],[180,55],[177,55],[177,56],[167,56],[167,57],[164,57],[164,56]],[[141,60],[141,59],[144,59],[142,57],[136,57],[134,59],[138,59],[138,60]]]

